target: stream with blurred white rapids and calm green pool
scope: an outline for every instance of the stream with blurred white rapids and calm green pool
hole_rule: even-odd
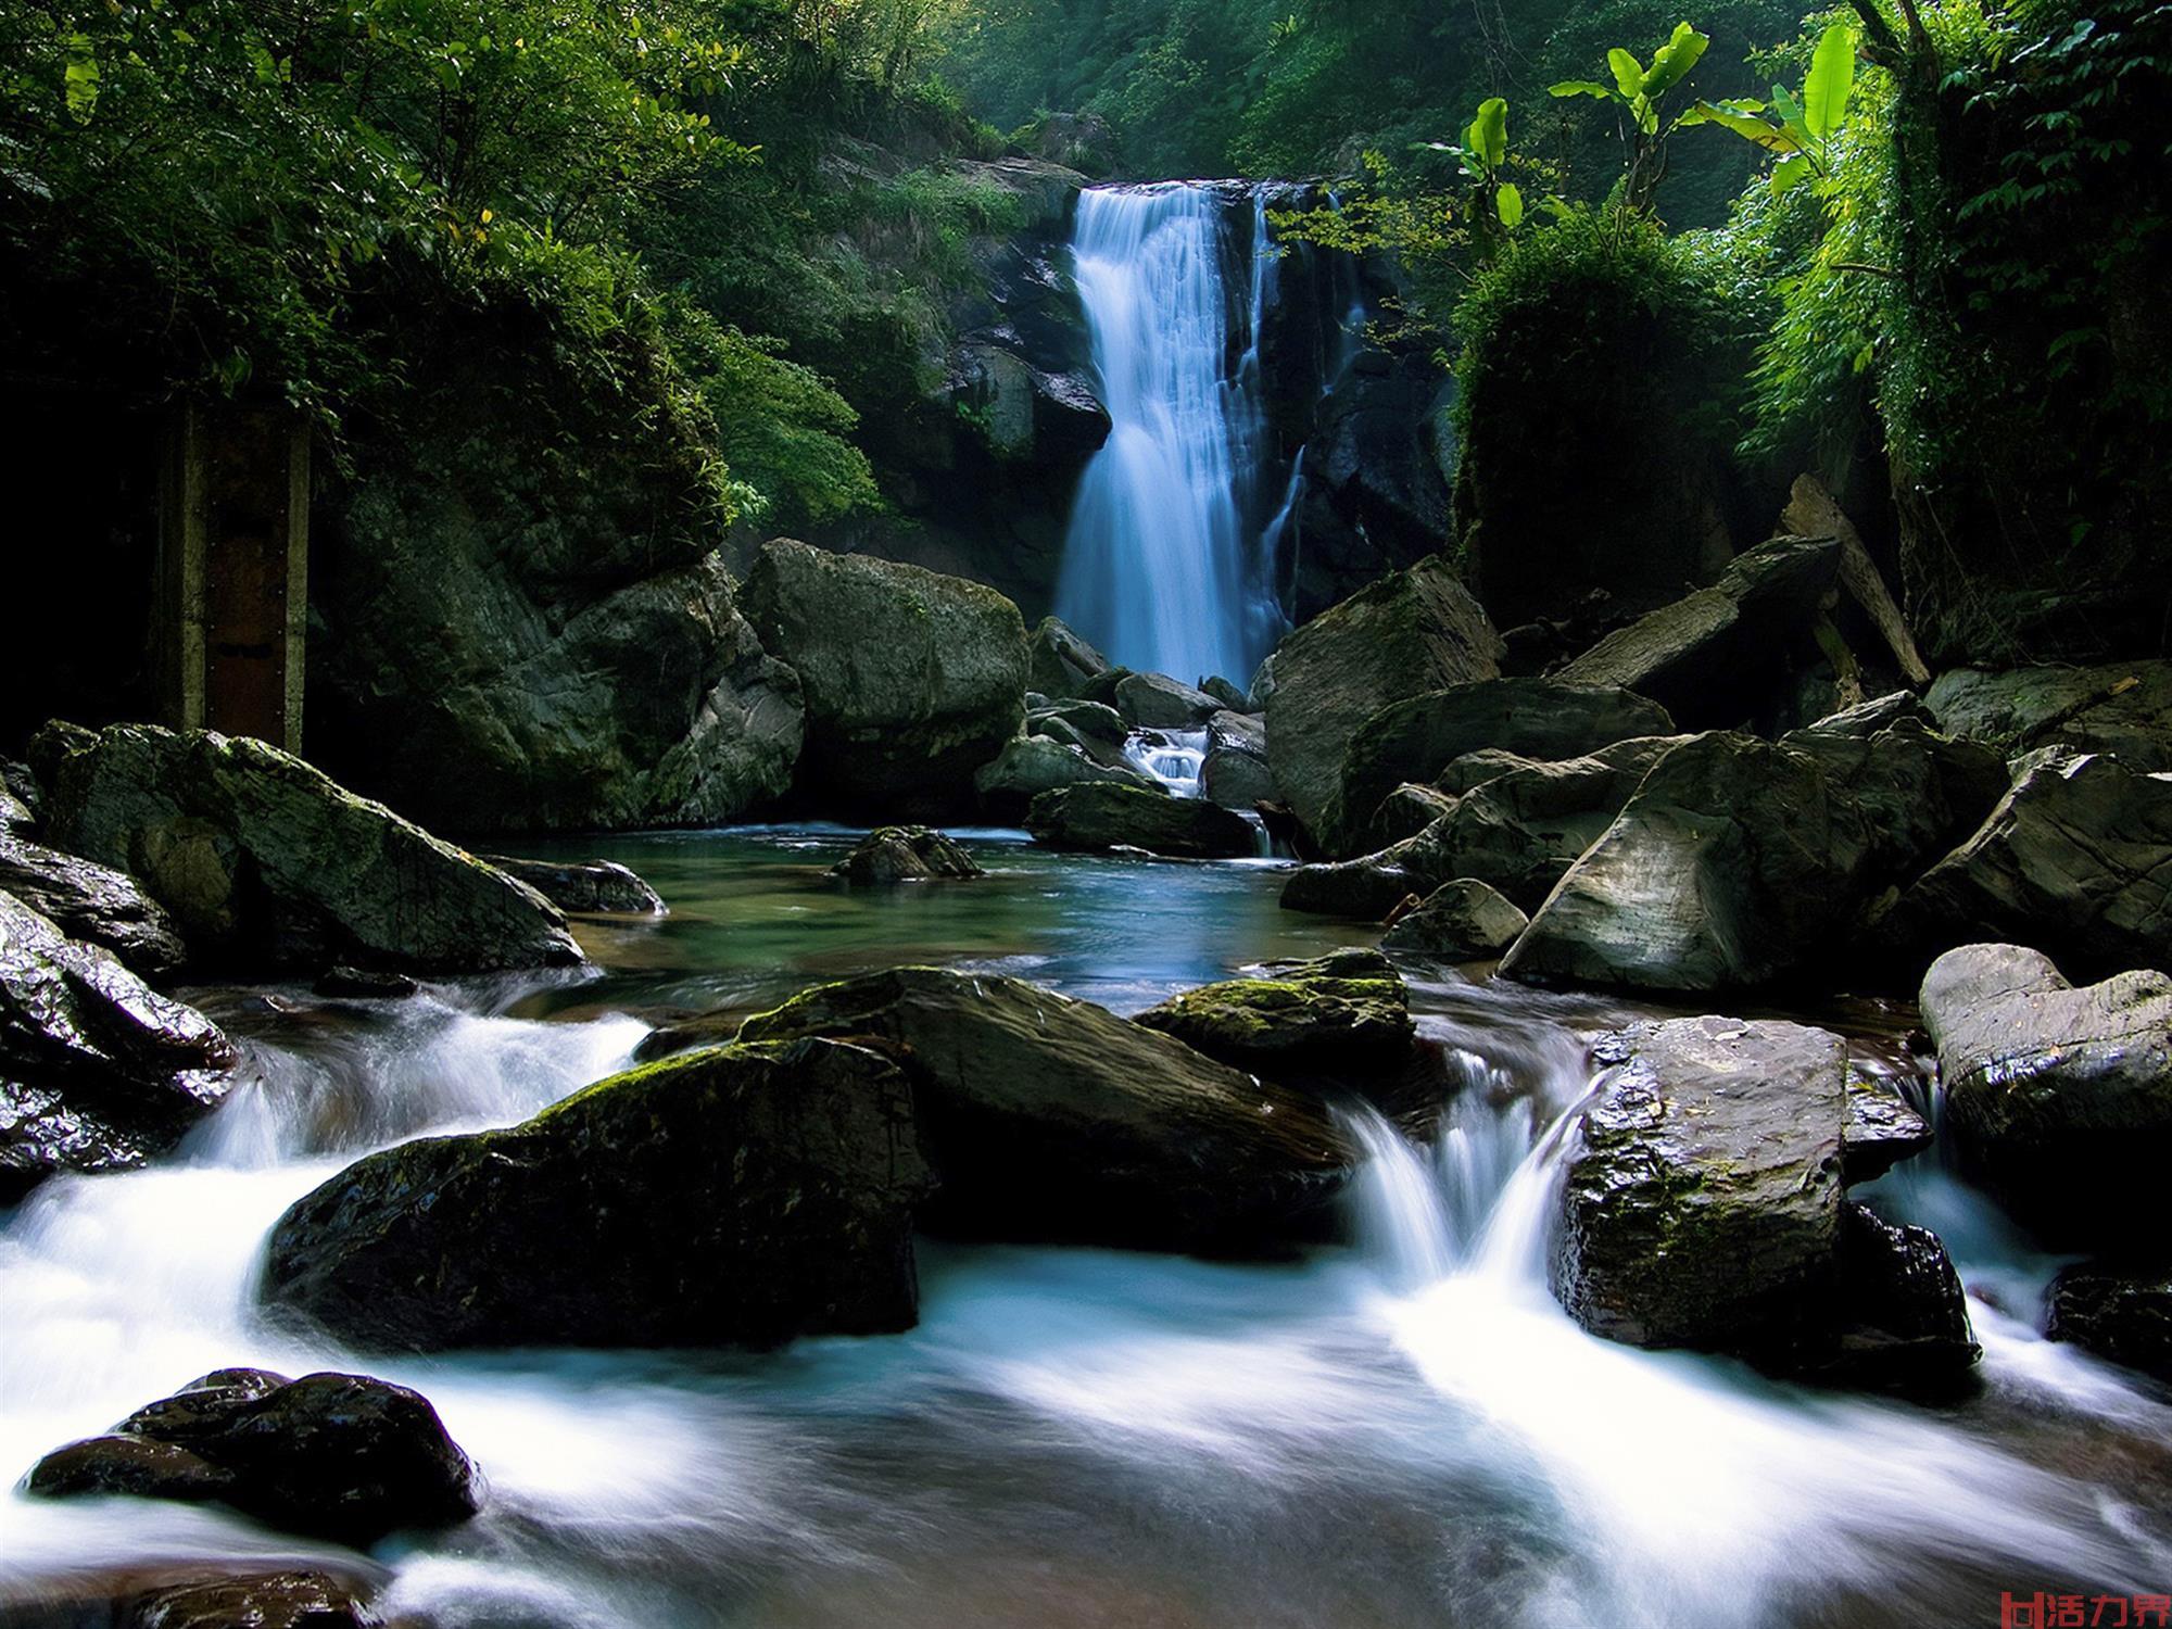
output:
[[[1349,1242],[1279,1264],[923,1242],[921,1325],[775,1353],[378,1358],[265,1327],[285,1205],[361,1151],[506,1125],[649,1023],[938,962],[1121,1012],[1364,943],[1277,908],[1268,862],[1053,856],[971,832],[971,884],[847,893],[843,830],[530,845],[671,904],[589,923],[599,973],[408,1001],[198,990],[250,1045],[156,1169],[46,1184],[0,1232],[0,1460],[219,1366],[428,1394],[482,1516],[380,1546],[382,1607],[441,1625],[1996,1625],[2000,1592],[2161,1594],[2172,1405],[2033,1334],[2055,1258],[1935,1156],[1868,1195],[1937,1227],[1983,1388],[1918,1407],[1581,1334],[1544,1281],[1586,1036],[1631,1010],[1412,969],[1455,1084],[1427,1142],[1351,1108]],[[550,1240],[536,1240],[547,1249]],[[332,1557],[206,1507],[4,1507],[0,1601],[67,1575]]]

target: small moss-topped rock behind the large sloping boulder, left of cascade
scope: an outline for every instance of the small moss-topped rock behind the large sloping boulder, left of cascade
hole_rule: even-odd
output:
[[[1266,1079],[1353,1088],[1410,1062],[1416,1038],[1403,975],[1362,949],[1184,990],[1136,1023]]]

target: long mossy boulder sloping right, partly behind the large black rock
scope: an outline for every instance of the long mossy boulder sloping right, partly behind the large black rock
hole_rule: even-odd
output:
[[[943,1179],[925,1218],[973,1238],[1255,1253],[1331,1229],[1355,1160],[1316,1099],[1010,977],[869,973],[741,1030],[817,1034],[899,1049]]]

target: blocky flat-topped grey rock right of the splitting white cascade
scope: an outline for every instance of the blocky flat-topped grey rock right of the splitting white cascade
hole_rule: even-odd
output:
[[[1640,1023],[1577,1125],[1551,1281],[1609,1340],[1788,1353],[1838,1281],[1846,1045],[1744,1019]]]

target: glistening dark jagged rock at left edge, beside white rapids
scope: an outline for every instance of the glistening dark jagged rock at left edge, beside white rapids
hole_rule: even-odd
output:
[[[0,893],[0,1203],[139,1166],[232,1084],[235,1045],[109,951]]]

